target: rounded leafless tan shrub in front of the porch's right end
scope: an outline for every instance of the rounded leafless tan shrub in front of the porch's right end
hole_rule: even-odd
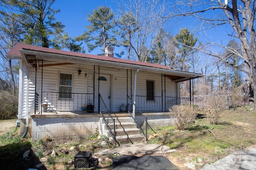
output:
[[[174,126],[178,130],[189,129],[196,120],[196,111],[190,105],[174,105],[169,109],[170,118],[174,119]]]

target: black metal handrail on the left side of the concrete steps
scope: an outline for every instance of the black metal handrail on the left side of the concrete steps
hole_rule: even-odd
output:
[[[118,144],[118,147],[120,146],[120,144],[116,141],[116,126],[115,126],[115,119],[113,119],[113,117],[111,116],[110,112],[108,111],[108,107],[106,106],[104,100],[102,99],[102,97],[99,94],[99,104],[100,104],[100,115],[105,123],[105,125],[108,128],[108,131],[110,132],[112,139],[116,143]]]

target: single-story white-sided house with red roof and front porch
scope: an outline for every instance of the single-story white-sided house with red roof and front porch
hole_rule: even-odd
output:
[[[191,101],[180,97],[179,83],[203,76],[114,58],[110,47],[101,56],[18,43],[6,57],[20,61],[18,121],[32,139],[84,139],[98,129],[108,135],[113,129],[102,125],[111,124],[104,114],[128,137],[121,122],[136,117],[135,110],[150,127],[171,125],[168,109]]]

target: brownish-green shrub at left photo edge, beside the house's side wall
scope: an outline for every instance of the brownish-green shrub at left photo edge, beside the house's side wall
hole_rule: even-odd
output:
[[[18,97],[8,91],[0,91],[0,119],[16,118],[18,110]]]

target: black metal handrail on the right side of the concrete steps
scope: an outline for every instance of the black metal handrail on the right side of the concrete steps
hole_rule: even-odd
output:
[[[134,123],[136,123],[137,128],[140,129],[140,132],[146,138],[146,142],[148,141],[148,118],[143,115],[143,113],[138,109],[136,104],[133,104],[132,100],[128,97],[128,113],[132,117]],[[133,110],[135,109],[134,115]]]

